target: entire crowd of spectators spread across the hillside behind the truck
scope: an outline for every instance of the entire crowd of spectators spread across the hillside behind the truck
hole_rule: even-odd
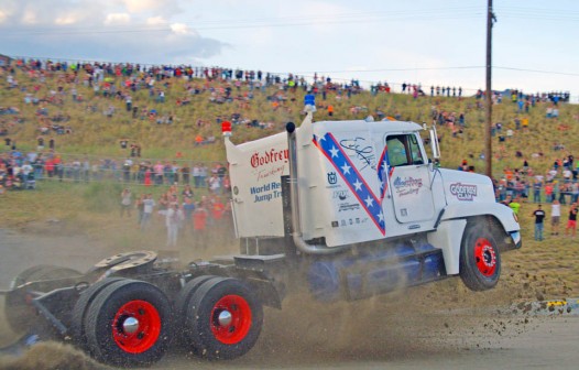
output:
[[[221,67],[193,66],[153,66],[140,64],[114,63],[68,63],[41,59],[15,59],[8,67],[0,68],[2,87],[14,91],[21,97],[21,106],[0,107],[0,135],[4,140],[4,151],[0,157],[0,184],[11,188],[33,188],[36,181],[53,179],[68,182],[90,182],[110,179],[124,184],[140,186],[174,186],[207,189],[210,195],[225,195],[229,192],[229,178],[223,165],[207,163],[187,163],[175,160],[143,160],[141,145],[130,140],[121,139],[121,145],[130,150],[130,156],[122,159],[103,159],[94,156],[74,156],[58,154],[56,149],[59,135],[74,135],[75,122],[68,113],[69,105],[80,105],[86,115],[100,115],[110,122],[120,119],[145,121],[156,126],[172,126],[190,119],[187,110],[193,101],[205,100],[208,105],[228,105],[232,113],[196,112],[192,124],[196,129],[193,146],[212,144],[216,137],[203,135],[205,128],[214,127],[228,120],[233,126],[247,128],[273,129],[273,120],[251,117],[256,97],[264,99],[272,111],[292,113],[299,107],[297,94],[316,96],[318,108],[323,108],[328,117],[335,115],[335,105],[348,100],[364,89],[358,80],[336,81],[329,76],[312,78],[294,74],[272,74],[261,70],[243,70]],[[175,86],[179,85],[176,89]],[[398,85],[398,84],[394,84]],[[88,91],[88,92],[87,92]],[[370,87],[370,95],[392,92],[389,83],[378,83]],[[430,96],[433,106],[430,119],[438,126],[448,128],[452,138],[462,138],[473,119],[472,112],[483,109],[484,92],[477,91],[476,100],[466,104],[466,109],[455,111],[445,108],[444,99],[463,97],[462,87],[430,86],[423,88],[422,84],[400,84],[400,92],[414,98]],[[429,94],[428,94],[429,92]],[[498,160],[507,156],[510,142],[516,140],[520,130],[532,130],[529,117],[536,107],[545,112],[545,119],[557,122],[558,130],[568,130],[558,123],[560,102],[569,101],[569,94],[561,91],[526,94],[518,89],[493,92],[496,105],[512,104],[514,119],[494,122],[491,134],[499,142],[495,150]],[[450,100],[448,100],[450,101]],[[342,105],[343,106],[343,105]],[[386,117],[386,112],[378,108],[370,111],[365,105],[346,105],[343,116],[361,117],[369,113],[378,119]],[[23,110],[33,111],[37,131],[29,141],[36,141],[36,151],[22,153],[18,150],[12,131],[25,123],[30,116]],[[398,110],[391,112],[395,119],[404,120]],[[427,115],[427,113],[426,113]],[[426,116],[425,115],[425,116]],[[543,113],[542,113],[543,116]],[[536,116],[535,116],[536,117]],[[438,140],[441,141],[440,134]],[[19,139],[21,140],[21,139]],[[505,146],[506,145],[506,146]],[[46,149],[46,150],[45,150]],[[553,151],[565,151],[560,142],[553,143]],[[474,160],[474,154],[469,154]],[[522,151],[516,151],[516,157],[524,160]],[[545,154],[537,151],[527,153],[533,162],[543,159]],[[479,159],[483,159],[481,153]],[[505,168],[503,176],[495,181],[496,198],[500,202],[529,199],[534,202],[553,202],[570,204],[577,202],[579,186],[577,185],[578,166],[573,165],[572,155],[554,163],[546,174],[537,174],[524,160],[521,168]],[[459,170],[474,171],[471,163],[465,160]],[[144,193],[143,193],[144,194]],[[184,205],[186,199],[177,204]],[[172,202],[174,203],[174,202]],[[161,204],[161,199],[156,202]],[[200,207],[204,208],[204,207]]]

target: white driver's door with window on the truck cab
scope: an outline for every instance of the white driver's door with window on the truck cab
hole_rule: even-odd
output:
[[[434,218],[428,164],[415,133],[389,134],[384,151],[390,189],[396,220],[401,224],[418,222]],[[385,210],[387,211],[387,210]]]

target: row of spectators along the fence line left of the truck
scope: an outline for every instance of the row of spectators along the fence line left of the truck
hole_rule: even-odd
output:
[[[143,186],[190,184],[195,188],[207,188],[212,194],[226,194],[230,189],[227,168],[221,163],[65,156],[54,150],[23,153],[8,140],[6,150],[0,154],[0,185],[4,189],[35,188],[36,181],[44,179],[75,183],[113,181]]]

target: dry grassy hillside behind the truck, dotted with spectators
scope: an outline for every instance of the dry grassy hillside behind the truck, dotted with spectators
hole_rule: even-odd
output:
[[[18,68],[14,72],[19,87],[8,88],[9,72],[4,70],[0,83],[0,101],[2,107],[15,107],[20,110],[20,115],[17,116],[23,122],[9,127],[9,137],[17,140],[19,149],[35,148],[35,139],[40,133],[39,128],[43,123],[56,123],[68,126],[73,130],[70,134],[53,134],[58,152],[97,156],[125,156],[128,152],[120,149],[119,140],[129,139],[131,142],[141,144],[144,157],[173,159],[177,152],[182,152],[185,159],[223,160],[225,151],[219,140],[218,118],[225,120],[231,119],[232,115],[238,115],[240,121],[258,120],[269,123],[271,128],[267,129],[247,128],[243,123],[233,127],[237,142],[256,139],[282,131],[285,122],[290,120],[299,122],[305,94],[302,88],[285,91],[280,86],[270,86],[265,89],[251,90],[248,85],[242,85],[238,90],[233,84],[222,80],[193,79],[186,81],[183,78],[171,78],[166,88],[161,87],[166,95],[165,102],[157,102],[154,97],[150,97],[145,87],[131,91],[122,87],[124,78],[110,77],[111,84],[118,86],[118,90],[131,95],[132,106],[138,107],[138,113],[133,118],[133,113],[127,111],[123,99],[106,98],[102,91],[95,94],[91,87],[85,86],[85,75],[81,73],[76,77],[64,72],[46,73],[47,77],[43,79],[42,77],[30,77],[29,74]],[[212,91],[227,87],[232,89],[233,100],[231,102],[210,102]],[[58,88],[62,88],[62,94],[57,92]],[[192,95],[187,88],[189,91],[197,89],[199,94]],[[76,89],[78,96],[81,97],[79,101],[73,101],[73,89]],[[36,105],[25,104],[28,94],[46,101]],[[248,95],[252,95],[253,98],[243,98]],[[281,95],[285,99],[277,109],[273,108],[271,101],[271,97],[275,95]],[[51,101],[53,96],[56,96],[57,99]],[[190,102],[177,106],[177,100],[184,99]],[[504,166],[520,167],[522,165],[522,159],[515,157],[516,151],[521,151],[523,156],[529,160],[533,153],[544,153],[543,157],[531,160],[531,165],[540,172],[547,170],[555,156],[561,155],[560,152],[553,150],[554,142],[561,142],[568,151],[577,152],[577,141],[571,138],[579,132],[576,124],[579,107],[560,105],[560,117],[556,121],[545,118],[547,104],[537,104],[531,108],[528,115],[517,115],[516,105],[509,102],[509,99],[504,101],[493,107],[493,122],[502,122],[504,132],[509,128],[515,129],[516,117],[526,116],[529,119],[529,129],[515,130],[514,137],[505,142],[499,142],[495,138],[493,141],[495,177],[501,175]],[[345,94],[339,96],[335,91],[329,91],[326,100],[318,95],[316,102],[318,105],[317,120],[329,118],[325,110],[328,105],[334,106],[332,119],[338,120],[364,118],[368,115],[375,117],[376,111],[380,110],[387,116],[397,115],[403,120],[430,123],[433,109],[456,112],[457,117],[463,112],[467,124],[463,133],[454,138],[450,129],[440,128],[443,165],[455,167],[462,159],[467,159],[476,165],[477,171],[483,172],[483,162],[478,157],[484,143],[484,110],[478,107],[478,100],[474,98],[459,100],[454,97],[426,96],[413,99],[409,95],[380,92],[372,96],[368,91],[348,98]],[[114,112],[108,118],[105,112],[111,107]],[[46,117],[39,115],[40,109],[46,110]],[[142,113],[143,110],[156,110],[157,117],[150,119],[148,115]],[[65,122],[55,122],[53,119],[57,116],[69,119]],[[156,119],[170,116],[174,118],[172,124],[156,123]],[[1,119],[4,122],[2,124],[8,126],[13,116],[2,116]],[[561,131],[561,128],[565,130]],[[215,137],[217,143],[195,148],[194,140],[198,134],[204,138]]]

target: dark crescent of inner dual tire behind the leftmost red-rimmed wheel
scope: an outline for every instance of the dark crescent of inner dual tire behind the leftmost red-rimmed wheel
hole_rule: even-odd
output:
[[[90,285],[80,293],[78,301],[76,301],[75,307],[73,308],[73,316],[70,318],[70,330],[68,331],[68,334],[73,338],[73,342],[80,349],[88,350],[87,337],[85,335],[85,318],[88,312],[88,307],[103,289],[123,279],[107,278]]]

